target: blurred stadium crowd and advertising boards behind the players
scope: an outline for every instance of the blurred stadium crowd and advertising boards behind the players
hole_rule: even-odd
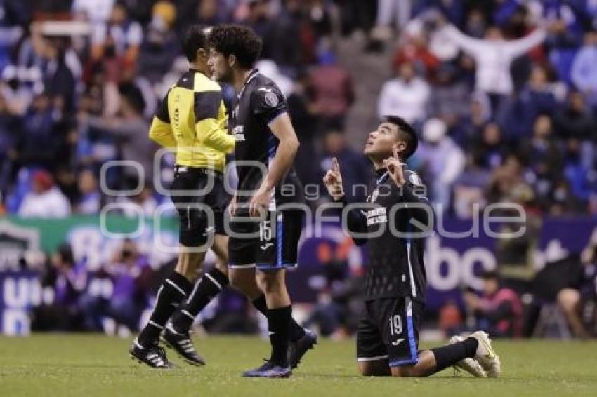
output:
[[[304,183],[320,184],[332,156],[347,186],[367,183],[366,134],[380,114],[397,114],[419,130],[409,166],[442,204],[444,229],[475,229],[492,203],[525,208],[527,233],[516,241],[485,230],[428,239],[428,335],[474,325],[464,295],[482,293],[483,269],[497,269],[517,292],[524,335],[575,335],[558,304],[565,288],[582,296],[577,316],[594,335],[595,1],[3,0],[0,10],[2,332],[128,335],[143,321],[173,265],[155,230],[176,245],[171,210],[155,216],[169,200],[152,185],[150,117],[187,67],[177,41],[184,27],[240,22],[263,37],[258,67],[288,97]],[[450,24],[480,40],[492,26],[508,39],[539,29],[546,37],[511,65],[492,63],[463,51],[445,34]],[[484,81],[475,74],[481,64],[512,85]],[[114,160],[138,162],[144,180],[131,168],[102,170]],[[157,180],[167,186],[171,159],[160,166]],[[111,194],[100,191],[102,173]],[[324,335],[349,336],[363,252],[337,224],[324,224],[299,255],[289,277],[295,313]],[[258,316],[233,292],[201,320],[210,332],[258,332]]]

